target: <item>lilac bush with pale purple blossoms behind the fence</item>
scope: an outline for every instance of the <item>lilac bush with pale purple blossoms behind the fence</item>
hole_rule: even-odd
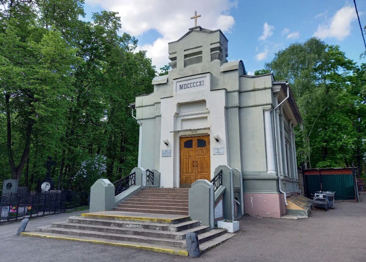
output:
[[[94,182],[102,178],[102,174],[107,171],[106,159],[105,156],[96,155],[93,159],[81,163],[79,171],[72,179],[78,182],[82,191],[89,192]]]

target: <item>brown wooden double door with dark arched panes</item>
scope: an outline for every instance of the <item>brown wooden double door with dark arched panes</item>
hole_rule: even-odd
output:
[[[210,136],[180,138],[180,187],[197,179],[211,180]]]

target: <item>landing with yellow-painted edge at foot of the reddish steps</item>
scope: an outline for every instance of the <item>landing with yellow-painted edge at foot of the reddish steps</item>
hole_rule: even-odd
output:
[[[137,211],[100,211],[92,213],[83,213],[81,217],[88,219],[107,219],[107,220],[124,220],[124,221],[144,221],[151,223],[179,224],[190,220],[190,217],[182,214],[143,212],[144,209]],[[187,212],[188,213],[188,212]]]

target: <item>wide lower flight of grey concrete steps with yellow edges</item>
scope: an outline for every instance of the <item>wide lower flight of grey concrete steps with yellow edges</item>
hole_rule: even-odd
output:
[[[189,216],[120,211],[84,213],[21,235],[134,247],[187,256],[188,232],[197,233],[201,252],[234,236],[225,229],[210,230]]]

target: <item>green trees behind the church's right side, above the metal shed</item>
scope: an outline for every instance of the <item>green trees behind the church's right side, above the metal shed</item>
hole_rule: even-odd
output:
[[[299,106],[304,129],[296,130],[298,163],[361,167],[366,153],[366,66],[357,67],[339,46],[311,38],[280,50],[266,69],[275,79],[290,81]]]

